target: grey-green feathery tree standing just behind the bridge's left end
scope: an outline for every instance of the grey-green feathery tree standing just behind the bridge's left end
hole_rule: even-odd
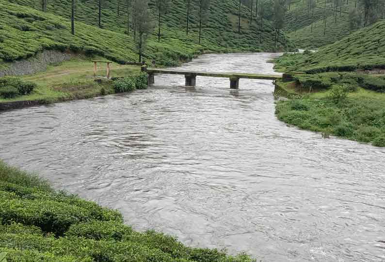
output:
[[[134,31],[138,32],[136,47],[139,53],[139,62],[142,62],[143,52],[148,36],[151,34],[154,25],[151,21],[147,0],[133,0],[133,18],[135,21]]]

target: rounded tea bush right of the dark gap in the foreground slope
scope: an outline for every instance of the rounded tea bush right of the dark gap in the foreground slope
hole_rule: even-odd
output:
[[[123,235],[132,229],[118,221],[90,221],[72,225],[65,233],[66,236],[80,236],[95,240],[112,239],[120,241]]]

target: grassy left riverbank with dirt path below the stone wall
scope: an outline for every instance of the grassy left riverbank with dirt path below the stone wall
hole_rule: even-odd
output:
[[[111,77],[123,77],[137,73],[140,73],[139,66],[116,63],[111,65]],[[105,64],[98,65],[96,75],[100,81],[96,82],[93,74],[94,64],[84,56],[77,56],[60,64],[49,66],[44,72],[16,76],[22,81],[36,84],[36,88],[28,95],[11,99],[0,97],[0,111],[115,93],[113,82],[105,78]]]

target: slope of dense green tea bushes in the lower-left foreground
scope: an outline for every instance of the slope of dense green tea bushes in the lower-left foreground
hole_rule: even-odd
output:
[[[0,161],[0,253],[8,262],[252,262],[135,232],[116,210],[58,192]]]

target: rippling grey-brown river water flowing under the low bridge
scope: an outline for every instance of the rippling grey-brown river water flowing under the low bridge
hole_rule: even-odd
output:
[[[181,68],[274,73],[275,54]],[[0,114],[0,159],[119,209],[137,230],[263,262],[385,261],[385,149],[274,116],[273,84],[159,75],[123,95]]]

